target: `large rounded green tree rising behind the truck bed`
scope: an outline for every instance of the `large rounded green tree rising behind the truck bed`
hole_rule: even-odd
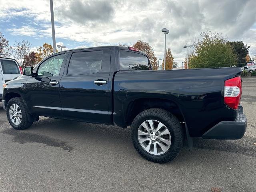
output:
[[[217,32],[206,31],[194,41],[195,51],[189,56],[189,68],[236,66],[237,58],[226,37]]]

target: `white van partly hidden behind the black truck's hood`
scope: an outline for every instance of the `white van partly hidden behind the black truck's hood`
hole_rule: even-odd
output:
[[[0,101],[3,96],[3,84],[22,74],[22,68],[15,59],[0,57]]]

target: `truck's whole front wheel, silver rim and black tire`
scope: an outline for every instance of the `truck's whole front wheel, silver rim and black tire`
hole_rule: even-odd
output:
[[[29,128],[33,123],[28,121],[28,114],[22,98],[15,97],[9,100],[6,107],[7,119],[10,125],[17,130]]]

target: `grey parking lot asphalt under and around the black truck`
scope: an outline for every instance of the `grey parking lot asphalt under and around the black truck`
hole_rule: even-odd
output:
[[[130,128],[40,117],[18,131],[0,106],[0,191],[255,192],[256,78],[243,78],[241,105],[242,139],[196,138],[166,164],[137,154]]]

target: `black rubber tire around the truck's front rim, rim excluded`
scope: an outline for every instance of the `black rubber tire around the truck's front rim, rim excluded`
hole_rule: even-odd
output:
[[[21,110],[22,120],[21,120],[19,125],[15,125],[12,122],[12,120],[10,119],[9,110],[10,110],[10,106],[12,104],[17,104],[19,106],[20,110]],[[8,101],[8,104],[7,104],[7,107],[6,107],[6,115],[7,115],[8,122],[16,130],[23,130],[23,129],[29,128],[33,124],[33,123],[28,121],[28,113],[26,111],[26,107],[25,107],[24,102],[23,102],[21,97],[11,98]]]

